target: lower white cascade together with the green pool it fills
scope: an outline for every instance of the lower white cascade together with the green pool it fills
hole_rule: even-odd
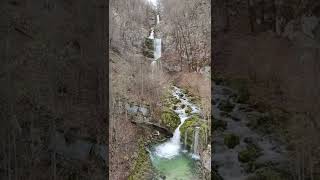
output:
[[[184,108],[180,106],[174,110],[180,117],[180,125],[175,129],[172,138],[152,147],[150,153],[152,164],[160,174],[166,177],[166,180],[197,180],[200,179],[196,165],[199,155],[195,154],[197,151],[188,152],[184,148],[179,128],[190,117],[185,112],[186,108],[190,106],[191,113],[198,113],[199,108],[192,104],[181,89],[177,87],[174,87],[172,95],[179,99],[181,104],[185,105]],[[194,147],[197,146],[197,141],[195,140]]]

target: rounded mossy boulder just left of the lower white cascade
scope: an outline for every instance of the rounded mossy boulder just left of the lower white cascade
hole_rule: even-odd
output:
[[[179,126],[180,118],[177,113],[171,109],[165,109],[161,113],[161,123],[166,126],[171,132]]]

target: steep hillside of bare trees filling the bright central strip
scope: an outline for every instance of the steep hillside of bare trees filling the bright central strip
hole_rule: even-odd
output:
[[[109,177],[210,179],[209,1],[111,1],[109,15]]]

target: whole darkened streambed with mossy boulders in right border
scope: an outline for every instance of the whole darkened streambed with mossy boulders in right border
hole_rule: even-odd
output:
[[[215,178],[291,179],[286,144],[268,127],[272,115],[246,104],[248,96],[245,91],[214,84]]]

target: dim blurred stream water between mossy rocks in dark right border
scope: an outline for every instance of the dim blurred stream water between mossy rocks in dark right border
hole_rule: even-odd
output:
[[[248,126],[250,118],[263,118],[266,117],[266,114],[251,109],[247,104],[237,103],[234,95],[238,92],[229,87],[214,84],[214,89],[214,106],[212,107],[214,123],[224,124],[224,127],[221,126],[214,130],[213,137],[213,164],[219,176],[225,180],[244,180],[258,168],[267,165],[272,165],[276,169],[286,169],[288,159],[283,143],[277,141],[275,135],[263,134]],[[226,112],[221,106],[224,102],[229,102],[233,106],[232,110]],[[237,136],[239,144],[228,148],[225,144],[227,134]],[[259,149],[259,153],[246,151],[250,146]],[[241,152],[251,152],[247,157],[250,162],[244,162],[246,159],[239,160]],[[255,157],[252,157],[253,155]]]

